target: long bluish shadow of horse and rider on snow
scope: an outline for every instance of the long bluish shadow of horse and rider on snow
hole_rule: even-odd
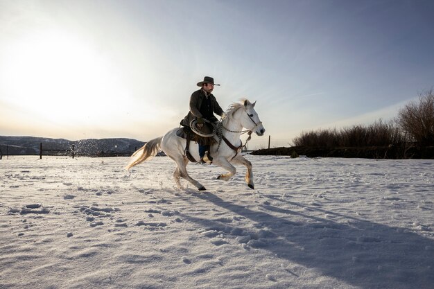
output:
[[[306,222],[291,222],[270,213],[246,209],[213,193],[194,196],[248,218],[256,222],[258,228],[265,228],[265,231],[260,230],[259,236],[252,233],[252,239],[257,238],[252,247],[266,249],[281,259],[320,270],[324,275],[360,288],[433,288],[434,243],[429,238],[297,202],[281,200],[304,208],[304,213],[271,205],[261,205],[261,208],[288,217],[298,216]],[[347,223],[310,216],[309,211],[345,218]],[[234,237],[248,233],[227,222],[222,225],[219,220],[184,218]]]

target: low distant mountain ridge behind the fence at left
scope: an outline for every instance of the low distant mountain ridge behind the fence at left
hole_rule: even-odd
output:
[[[49,139],[46,137],[2,137],[1,155],[85,155],[85,156],[128,156],[144,145],[137,139]]]

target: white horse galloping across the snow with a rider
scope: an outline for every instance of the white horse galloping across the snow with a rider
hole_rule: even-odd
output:
[[[240,135],[243,132],[250,132],[250,134],[255,132],[257,135],[262,136],[266,131],[265,128],[263,128],[262,122],[259,120],[257,112],[254,110],[255,104],[256,101],[250,103],[247,99],[242,99],[241,103],[232,104],[227,110],[226,116],[224,116],[221,121],[220,137],[215,135],[214,139],[216,139],[217,143],[211,146],[211,156],[213,157],[212,164],[221,166],[229,171],[229,173],[221,174],[217,178],[225,181],[229,180],[236,173],[236,168],[232,166],[231,163],[243,164],[247,168],[245,181],[251,189],[254,189],[252,163],[245,159],[240,153],[243,148]],[[243,128],[248,129],[248,131],[243,131]],[[154,157],[162,150],[177,164],[173,178],[178,188],[182,188],[180,177],[183,177],[200,191],[204,191],[205,187],[187,173],[186,165],[189,163],[189,159],[185,155],[186,139],[177,136],[178,130],[180,130],[180,128],[174,128],[164,134],[164,137],[158,137],[148,141],[142,148],[134,152],[130,164],[128,164],[126,168],[129,169],[132,166],[140,164],[146,161],[146,159]],[[200,159],[197,143],[193,141],[190,142],[189,152],[194,159]]]

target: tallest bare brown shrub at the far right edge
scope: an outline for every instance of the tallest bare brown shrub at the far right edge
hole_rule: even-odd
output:
[[[434,92],[419,94],[419,102],[411,102],[399,110],[397,123],[403,132],[421,146],[434,146]]]

